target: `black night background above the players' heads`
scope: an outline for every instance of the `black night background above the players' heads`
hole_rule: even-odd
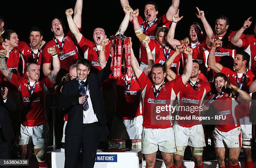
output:
[[[43,30],[44,40],[49,41],[53,37],[50,29],[52,17],[57,15],[63,18],[67,32],[65,9],[74,8],[75,2],[76,0],[1,0],[0,15],[5,18],[5,29],[17,31],[20,40],[28,42],[29,29],[36,25]],[[130,5],[133,9],[138,8],[140,15],[144,18],[143,8],[146,2],[147,0],[130,0]],[[172,0],[155,0],[154,2],[159,7],[158,17],[164,15],[172,4]],[[184,18],[176,28],[175,38],[178,40],[188,35],[190,23],[200,22],[200,19],[195,15],[196,6],[205,11],[205,17],[211,26],[214,26],[215,18],[219,15],[227,15],[230,18],[231,30],[241,28],[244,20],[250,16],[253,16],[253,21],[256,18],[255,1],[253,3],[253,0],[180,0],[180,15],[184,15]],[[124,13],[119,0],[84,0],[81,32],[86,38],[92,40],[94,28],[102,27],[109,37],[118,30],[123,16]],[[245,33],[252,34],[252,32],[251,26]],[[131,23],[125,35],[135,37]]]

